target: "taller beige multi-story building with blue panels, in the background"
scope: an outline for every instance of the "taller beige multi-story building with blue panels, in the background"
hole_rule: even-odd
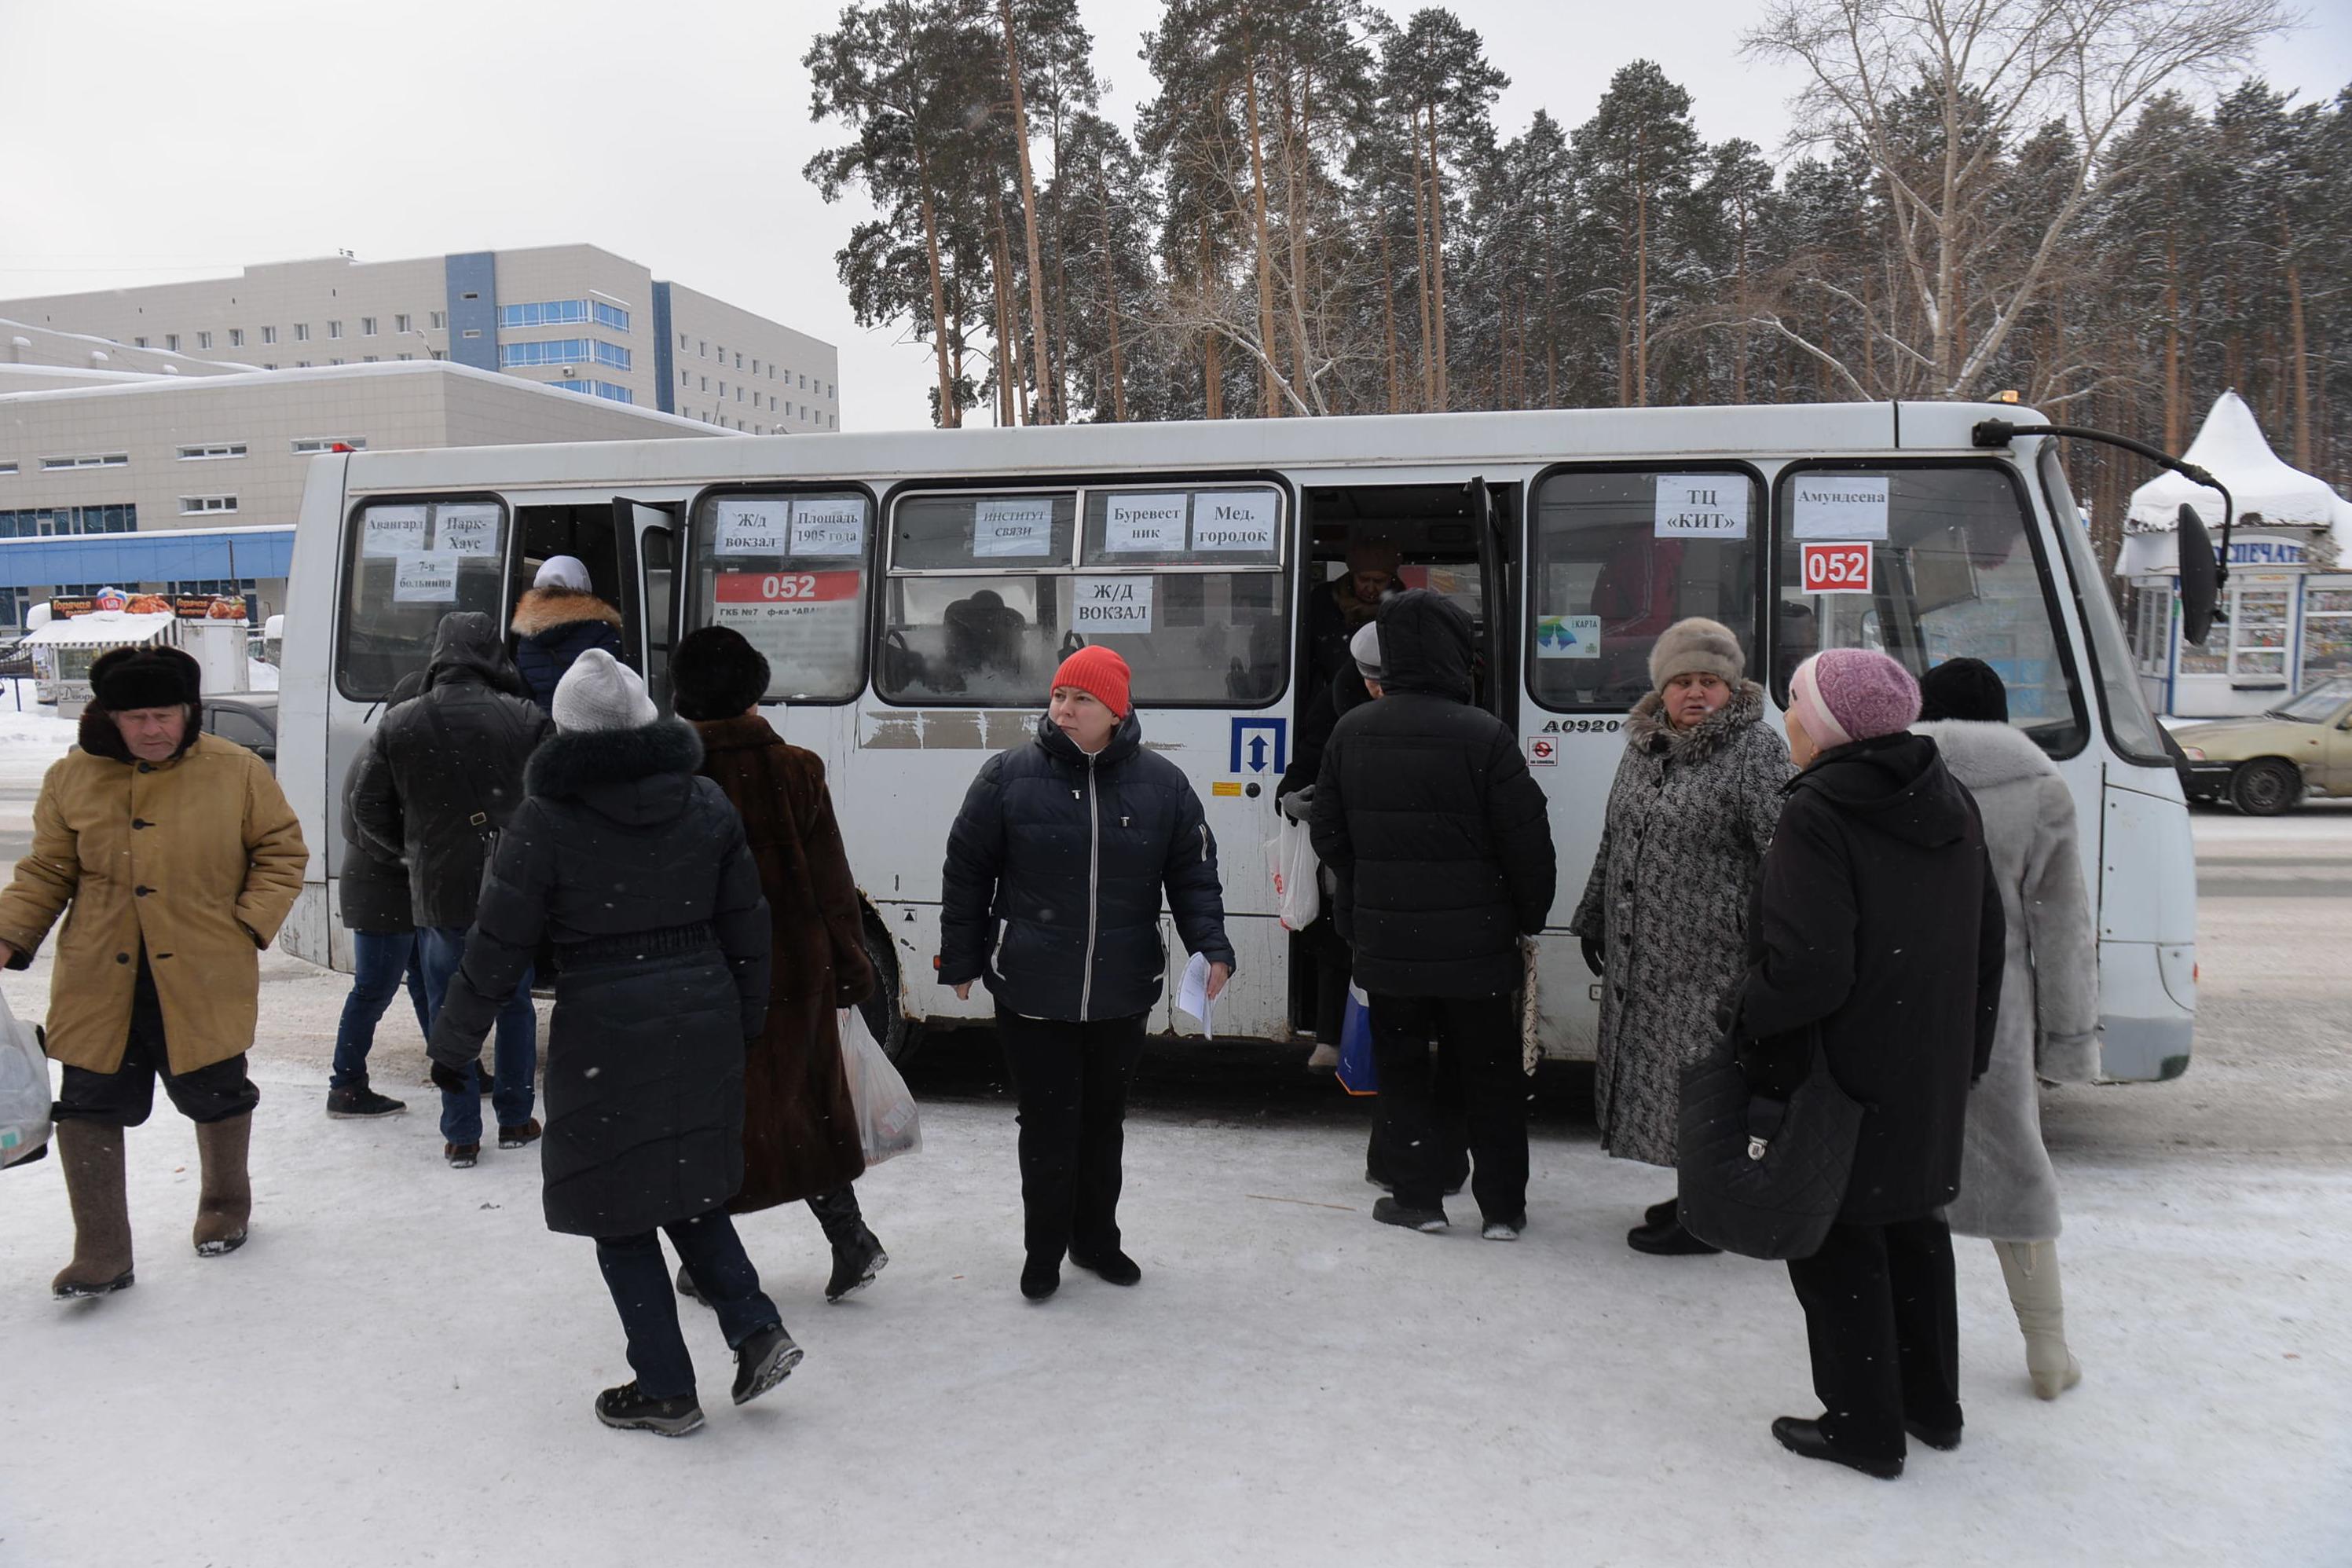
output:
[[[282,261],[240,277],[12,299],[0,317],[111,339],[183,369],[449,360],[750,435],[842,423],[833,343],[593,244]],[[7,336],[0,329],[0,346]]]

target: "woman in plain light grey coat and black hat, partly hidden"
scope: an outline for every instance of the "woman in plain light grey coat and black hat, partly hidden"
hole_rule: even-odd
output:
[[[2009,917],[1992,1067],[1969,1093],[1952,1229],[1987,1237],[2025,1331],[2034,1394],[2082,1382],[2058,1291],[2058,1175],[2042,1147],[2034,1079],[2098,1077],[2098,943],[2082,884],[2074,797],[2042,748],[2009,726],[2002,677],[1952,658],[1919,682],[1922,722],[1943,764],[1976,797],[1985,851]]]

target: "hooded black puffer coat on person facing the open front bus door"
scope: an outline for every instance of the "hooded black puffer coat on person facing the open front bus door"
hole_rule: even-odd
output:
[[[1338,882],[1355,980],[1395,997],[1498,997],[1543,931],[1557,860],[1519,743],[1470,705],[1470,616],[1425,588],[1381,604],[1381,698],[1331,729],[1315,856]]]

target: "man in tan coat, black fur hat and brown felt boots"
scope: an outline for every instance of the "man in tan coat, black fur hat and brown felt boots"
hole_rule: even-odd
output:
[[[0,893],[7,969],[31,964],[66,917],[47,1030],[49,1056],[66,1065],[54,1117],[75,1232],[73,1262],[52,1284],[59,1298],[132,1284],[122,1128],[148,1119],[158,1077],[195,1121],[195,1251],[245,1244],[259,954],[308,863],[268,764],[202,733],[193,658],[115,649],[92,665],[89,686],[80,741],[40,785],[33,853]]]

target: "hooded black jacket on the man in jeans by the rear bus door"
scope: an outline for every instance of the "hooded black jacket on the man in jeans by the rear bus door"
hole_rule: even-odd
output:
[[[383,712],[350,788],[360,839],[409,867],[419,926],[473,924],[489,844],[522,802],[524,759],[550,733],[499,625],[477,611],[442,616],[423,691]]]

